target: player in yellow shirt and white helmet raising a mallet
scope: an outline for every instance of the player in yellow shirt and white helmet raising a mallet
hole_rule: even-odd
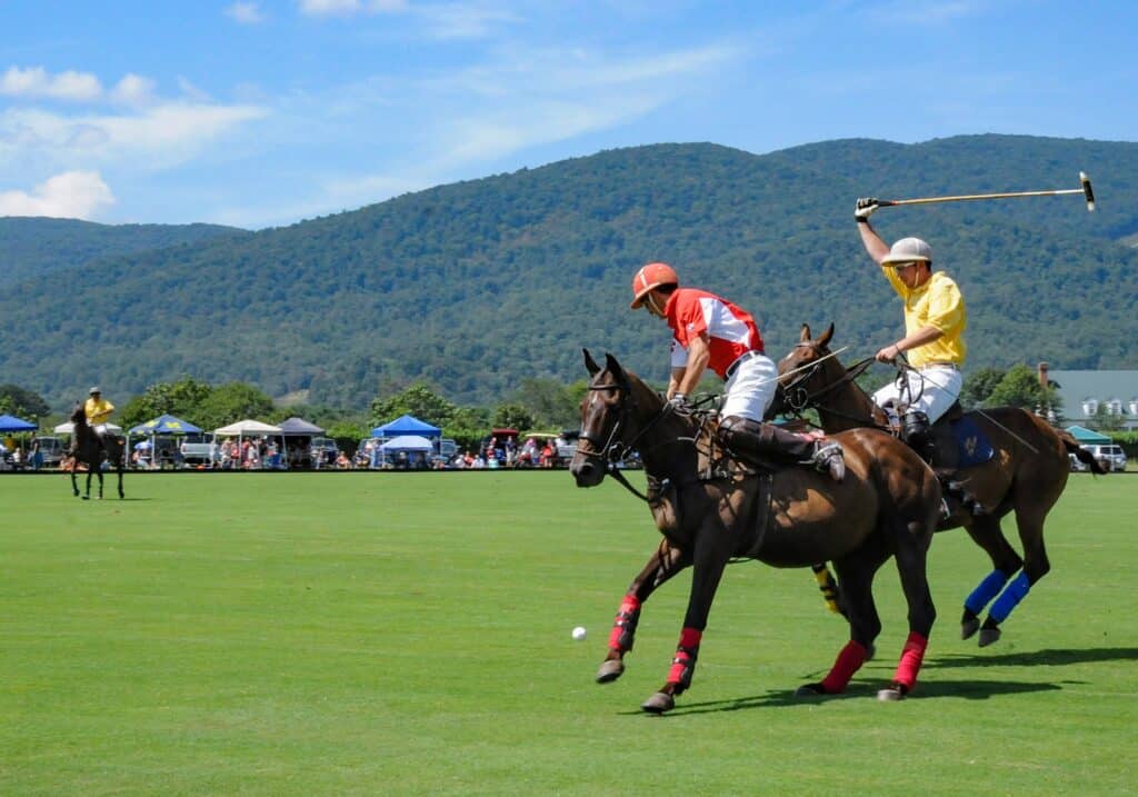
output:
[[[902,435],[929,460],[929,427],[948,412],[964,385],[960,369],[967,352],[967,313],[956,282],[943,271],[932,270],[932,248],[925,241],[901,238],[890,247],[874,232],[869,216],[877,207],[876,199],[858,199],[853,217],[866,252],[882,266],[905,304],[905,337],[875,356],[881,362],[893,362],[901,352],[908,352],[914,370],[874,393],[873,401],[887,411],[898,401],[908,403],[901,420]]]

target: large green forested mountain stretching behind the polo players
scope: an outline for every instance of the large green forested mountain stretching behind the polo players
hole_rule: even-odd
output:
[[[1138,368],[1138,145],[976,135],[843,140],[757,156],[715,145],[604,151],[443,186],[360,211],[60,271],[0,297],[9,381],[58,402],[191,375],[364,406],[424,379],[493,403],[526,377],[582,376],[580,348],[651,379],[667,330],[628,311],[666,260],[760,319],[776,356],[835,321],[850,359],[900,334],[861,249],[858,196],[1078,188],[1078,196],[885,208],[964,289],[970,368]],[[11,320],[18,321],[13,323]]]

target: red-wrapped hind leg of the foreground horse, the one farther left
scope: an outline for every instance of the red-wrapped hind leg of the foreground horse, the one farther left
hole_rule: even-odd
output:
[[[834,561],[842,584],[842,603],[850,624],[850,639],[838,654],[834,665],[822,681],[798,688],[794,697],[838,695],[846,691],[850,679],[872,656],[873,642],[881,633],[881,617],[873,600],[873,577],[889,558],[874,545]]]

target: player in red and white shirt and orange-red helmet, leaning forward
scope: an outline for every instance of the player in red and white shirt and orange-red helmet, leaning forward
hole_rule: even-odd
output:
[[[632,309],[642,305],[671,328],[667,397],[675,409],[688,406],[687,397],[710,368],[726,383],[718,435],[727,450],[744,460],[809,462],[835,482],[842,480],[846,462],[836,442],[762,422],[774,401],[778,369],[764,354],[750,313],[706,290],[681,288],[676,271],[667,263],[649,263],[633,277]]]

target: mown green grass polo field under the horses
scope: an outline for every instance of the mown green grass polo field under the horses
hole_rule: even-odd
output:
[[[847,639],[808,570],[728,569],[663,717],[687,578],[593,683],[657,543],[643,504],[566,473],[127,476],[82,502],[0,477],[0,795],[1119,795],[1138,790],[1138,478],[1073,476],[1053,569],[979,649],[962,532],[916,695],[874,699],[906,635],[795,701]],[[588,639],[575,642],[570,628]]]

